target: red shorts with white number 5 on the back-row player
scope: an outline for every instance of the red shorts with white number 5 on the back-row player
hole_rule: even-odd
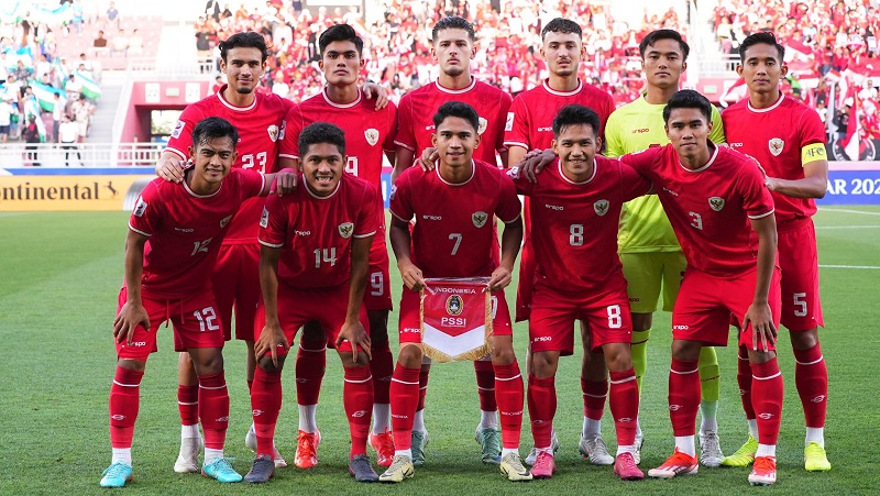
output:
[[[825,327],[818,297],[818,254],[813,220],[779,229],[779,266],[782,269],[782,326],[792,332]]]

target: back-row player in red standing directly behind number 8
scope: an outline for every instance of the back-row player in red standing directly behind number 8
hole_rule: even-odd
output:
[[[551,148],[553,141],[553,119],[563,107],[572,103],[585,106],[600,117],[600,129],[595,137],[601,137],[614,111],[614,99],[610,95],[584,84],[578,77],[578,67],[585,56],[583,32],[581,26],[568,19],[557,18],[548,22],[541,30],[541,56],[550,71],[548,79],[537,88],[530,89],[514,98],[510,112],[504,129],[504,144],[507,146],[507,165],[517,165],[530,150]],[[551,156],[554,159],[556,156]],[[519,282],[516,289],[516,321],[528,320],[531,305],[531,286],[535,276],[535,258],[531,250],[530,198],[525,199],[526,242],[519,257]],[[583,324],[582,324],[583,326]],[[582,327],[582,332],[585,327]],[[584,338],[588,338],[584,333]],[[581,389],[584,398],[584,426],[581,432],[579,450],[597,465],[610,465],[614,458],[602,439],[602,414],[605,410],[605,397],[608,395],[608,379],[605,370],[605,357],[602,353],[593,354],[592,346],[585,345],[581,371]],[[530,363],[530,361],[527,361]],[[552,434],[553,449],[559,447],[556,433]],[[534,464],[537,451],[532,449],[526,463]]]

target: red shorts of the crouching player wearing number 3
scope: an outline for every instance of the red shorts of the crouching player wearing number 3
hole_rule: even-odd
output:
[[[773,271],[768,302],[779,329],[779,269]],[[716,277],[696,269],[684,271],[679,298],[672,310],[672,337],[726,346],[732,322],[741,323],[755,298],[758,269],[736,278]],[[739,333],[738,344],[752,349],[751,324]],[[770,350],[776,348],[771,344]]]

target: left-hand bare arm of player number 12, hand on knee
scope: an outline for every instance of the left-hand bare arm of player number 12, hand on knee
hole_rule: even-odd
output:
[[[129,229],[125,238],[125,293],[128,300],[119,310],[119,315],[113,319],[113,338],[118,343],[123,340],[129,345],[134,339],[134,330],[138,326],[143,326],[150,330],[150,316],[141,300],[141,277],[144,272],[144,245],[148,240],[144,234]]]

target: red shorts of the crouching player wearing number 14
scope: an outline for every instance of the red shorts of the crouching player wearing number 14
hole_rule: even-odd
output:
[[[327,334],[327,345],[337,348],[337,338],[339,337],[339,331],[342,330],[342,324],[345,323],[348,310],[348,283],[327,288],[293,288],[284,283],[278,284],[278,320],[289,344],[293,344],[299,328],[314,320],[321,326],[321,329]],[[366,333],[370,334],[370,320],[366,318],[366,309],[363,306],[361,306],[360,320]],[[266,312],[262,298],[256,308],[256,320],[254,322],[253,338],[256,341],[266,324]],[[339,351],[352,351],[349,341],[343,341],[337,349]],[[278,348],[279,355],[286,353],[284,349]]]

